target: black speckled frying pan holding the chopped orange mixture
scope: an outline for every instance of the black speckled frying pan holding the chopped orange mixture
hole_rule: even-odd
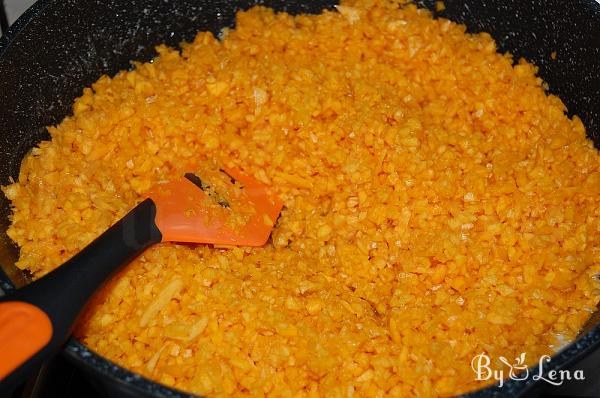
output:
[[[333,1],[264,0],[290,13],[317,13]],[[225,0],[40,0],[0,39],[0,184],[17,178],[21,159],[41,140],[45,126],[70,113],[82,89],[102,74],[147,61],[154,46],[177,46],[198,31],[218,32],[234,23],[235,11],[256,1]],[[434,9],[435,2],[420,5]],[[600,148],[600,4],[595,0],[446,0],[436,15],[487,31],[500,51],[525,57],[540,68],[551,93],[578,115]],[[550,54],[556,51],[557,60]],[[0,195],[0,289],[28,281],[14,267],[18,249],[4,231],[9,207]],[[600,312],[545,371],[562,369],[600,346]],[[111,396],[186,394],[142,378],[71,340],[64,355]],[[530,373],[538,373],[536,368]],[[594,377],[597,375],[587,375]],[[539,383],[507,381],[473,393],[477,397],[537,395]]]

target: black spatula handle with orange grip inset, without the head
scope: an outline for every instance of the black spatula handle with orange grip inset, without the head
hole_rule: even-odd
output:
[[[16,353],[4,358],[0,354],[0,390],[6,392],[15,387],[44,359],[58,352],[85,304],[102,284],[144,249],[161,241],[155,216],[154,202],[144,200],[62,266],[0,298],[0,353]],[[28,317],[40,328],[50,321],[46,344],[36,337],[40,329],[32,328]],[[41,347],[19,363],[19,354],[32,351],[36,342]],[[21,346],[24,350],[19,351],[17,347]]]

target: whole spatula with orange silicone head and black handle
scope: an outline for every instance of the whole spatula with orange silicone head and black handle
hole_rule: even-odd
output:
[[[158,184],[121,220],[42,278],[0,298],[0,390],[58,352],[91,296],[159,242],[262,246],[282,202],[239,170],[182,173]]]

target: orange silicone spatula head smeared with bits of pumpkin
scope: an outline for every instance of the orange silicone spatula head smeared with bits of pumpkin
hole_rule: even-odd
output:
[[[227,168],[184,173],[148,197],[163,242],[262,246],[283,207],[269,187]]]

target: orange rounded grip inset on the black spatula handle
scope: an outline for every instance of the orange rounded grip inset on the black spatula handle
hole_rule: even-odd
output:
[[[0,303],[0,380],[40,351],[52,338],[48,315],[24,301]]]

